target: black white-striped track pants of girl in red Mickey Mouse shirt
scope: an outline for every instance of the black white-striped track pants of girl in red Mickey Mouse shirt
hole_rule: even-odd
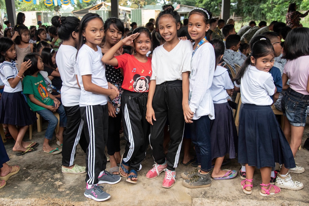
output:
[[[124,138],[127,141],[123,161],[129,163],[132,170],[142,169],[149,145],[149,126],[146,121],[148,93],[125,90],[121,96],[121,114]]]

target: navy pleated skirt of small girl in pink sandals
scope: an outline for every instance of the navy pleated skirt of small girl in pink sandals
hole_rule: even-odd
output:
[[[270,106],[244,104],[239,115],[238,162],[249,166],[296,167],[292,150]]]

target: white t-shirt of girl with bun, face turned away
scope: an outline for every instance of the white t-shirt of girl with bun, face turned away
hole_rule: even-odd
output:
[[[76,80],[77,49],[61,44],[56,54],[56,62],[62,80],[61,101],[64,106],[79,105],[80,91]]]

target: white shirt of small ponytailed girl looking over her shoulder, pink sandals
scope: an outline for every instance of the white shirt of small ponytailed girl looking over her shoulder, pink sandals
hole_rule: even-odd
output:
[[[240,80],[240,96],[244,104],[271,105],[270,96],[275,93],[273,76],[269,72],[258,70],[249,65],[247,71]]]

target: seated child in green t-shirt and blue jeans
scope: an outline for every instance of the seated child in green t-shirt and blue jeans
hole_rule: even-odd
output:
[[[39,73],[39,71],[44,69],[41,56],[37,53],[30,53],[24,58],[24,61],[28,60],[32,61],[32,65],[24,72],[23,93],[26,95],[28,105],[32,111],[36,111],[49,122],[45,133],[43,151],[53,155],[59,154],[62,150],[49,146],[49,140],[53,138],[53,131],[58,124],[58,119],[53,112],[59,113],[60,116],[59,132],[56,134],[56,137],[59,139],[57,145],[61,147],[63,142],[63,131],[67,121],[66,113],[60,101],[46,89],[45,82],[47,80]]]

